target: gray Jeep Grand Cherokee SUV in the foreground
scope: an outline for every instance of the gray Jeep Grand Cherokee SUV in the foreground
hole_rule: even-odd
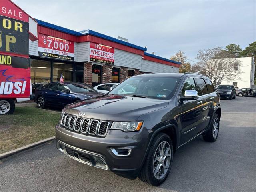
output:
[[[133,76],[107,95],[66,106],[57,148],[84,164],[158,186],[175,150],[202,135],[216,141],[220,97],[200,74]]]

